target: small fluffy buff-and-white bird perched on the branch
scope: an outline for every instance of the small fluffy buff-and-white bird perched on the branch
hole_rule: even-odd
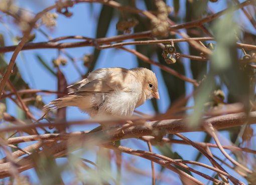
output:
[[[155,73],[147,68],[100,68],[68,86],[73,91],[51,101],[44,110],[78,107],[90,117],[129,117],[146,100],[160,99]]]

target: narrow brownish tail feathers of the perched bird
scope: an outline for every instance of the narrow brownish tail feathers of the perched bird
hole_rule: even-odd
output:
[[[58,98],[56,100],[51,101],[49,104],[44,106],[44,110],[50,110],[50,109],[58,109],[62,107],[68,107],[68,106],[77,106],[80,102],[79,96],[76,95],[67,95],[63,96],[61,98]]]

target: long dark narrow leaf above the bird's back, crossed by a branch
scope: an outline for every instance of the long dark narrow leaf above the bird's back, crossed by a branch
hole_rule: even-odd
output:
[[[96,38],[103,38],[106,36],[110,22],[113,17],[114,9],[112,7],[103,5],[101,8],[101,12],[98,19]],[[100,51],[98,49],[94,49],[93,51],[93,60],[88,68],[88,72],[92,71],[96,65],[97,59],[100,55]]]

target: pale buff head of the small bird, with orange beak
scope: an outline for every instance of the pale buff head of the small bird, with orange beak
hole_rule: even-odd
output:
[[[147,68],[137,68],[139,72],[139,78],[143,84],[143,91],[147,99],[157,98],[160,99],[158,93],[158,82],[156,74]]]

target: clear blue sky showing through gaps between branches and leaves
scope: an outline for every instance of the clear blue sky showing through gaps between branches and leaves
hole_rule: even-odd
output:
[[[140,2],[140,1],[139,1]],[[29,9],[34,13],[37,13],[41,11],[42,9],[46,8],[47,6],[51,5],[53,1],[32,1],[32,0],[23,0],[23,1],[17,1],[17,3],[22,6],[25,9]],[[141,9],[144,9],[144,6],[142,3],[138,3],[141,5]],[[180,1],[180,15],[184,15],[185,7],[184,7],[185,1]],[[167,1],[167,5],[172,6],[172,1]],[[209,3],[209,7],[211,7],[211,10],[214,11],[214,13],[223,10],[226,7],[225,1],[219,1],[218,3],[212,4]],[[73,12],[73,16],[71,18],[66,18],[62,15],[58,16],[57,19],[57,27],[54,29],[47,29],[45,26],[42,26],[42,29],[46,31],[49,36],[52,38],[57,38],[61,36],[85,36],[85,37],[95,37],[95,29],[96,29],[96,22],[97,22],[97,15],[100,11],[100,5],[96,4],[93,6],[93,11],[90,9],[89,4],[80,4],[76,5],[73,8],[70,9],[71,12]],[[240,11],[239,11],[240,12]],[[115,30],[115,24],[117,23],[117,19],[113,20],[110,26],[110,29],[108,30],[107,36],[114,36],[116,35]],[[12,20],[9,21],[12,23]],[[251,26],[248,22],[244,22],[244,25],[246,25],[247,29],[251,29]],[[6,43],[7,45],[14,45],[16,43],[13,42],[12,38],[10,37],[9,32],[6,29],[6,26],[9,25],[2,25],[0,24],[0,33],[3,33],[5,35]],[[21,36],[21,33],[17,30],[16,27],[10,27],[10,30],[12,30],[12,33],[16,36]],[[38,31],[34,30],[34,33],[36,33],[37,37],[33,42],[42,42],[47,41],[47,39]],[[181,44],[183,53],[188,53],[188,48],[186,43]],[[134,49],[134,46],[127,46],[131,49]],[[76,59],[81,58],[84,54],[91,54],[93,51],[92,47],[82,47],[82,48],[73,48],[73,49],[66,49],[66,51]],[[53,49],[41,49],[41,50],[28,50],[21,52],[21,54],[17,58],[17,65],[21,69],[22,75],[26,82],[30,85],[33,89],[43,89],[43,90],[56,90],[57,88],[57,81],[54,76],[52,76],[50,73],[48,73],[44,68],[42,68],[41,64],[39,64],[37,58],[35,57],[35,54],[40,54],[45,61],[53,67],[52,65],[52,59],[56,58],[58,55],[57,50]],[[6,59],[10,60],[12,55],[12,52],[5,54]],[[189,70],[189,62],[188,60],[184,59],[182,61],[186,67],[186,74],[188,77],[191,77],[191,72]],[[86,68],[82,65],[82,61],[78,61],[77,65],[79,66],[80,70],[85,73]],[[96,65],[96,68],[108,68],[108,67],[124,67],[124,68],[133,68],[137,66],[137,60],[136,57],[133,54],[127,53],[122,50],[118,49],[106,49],[101,52],[100,57],[98,58],[98,63]],[[171,66],[170,66],[171,67]],[[61,67],[62,72],[64,73],[68,84],[74,83],[78,80],[80,80],[79,74],[76,72],[75,68],[69,61],[66,66]],[[158,104],[160,105],[160,111],[165,112],[166,109],[169,107],[170,100],[167,97],[167,90],[165,88],[165,85],[162,83],[162,77],[159,73],[159,69],[157,67],[153,66],[153,70],[157,74],[157,78],[159,80],[159,93],[161,99],[158,100]],[[192,91],[192,85],[186,83],[187,85],[187,94],[189,94]],[[55,95],[46,95],[43,96],[43,100],[45,103],[50,102],[51,100],[55,99]],[[188,106],[193,105],[193,100],[191,100],[188,104]],[[149,101],[147,101],[144,105],[139,107],[137,110],[142,111],[144,113],[152,114],[154,113],[153,107]],[[17,107],[11,102],[8,101],[8,112],[12,115],[17,115]],[[37,115],[37,117],[41,116],[41,113],[37,110],[33,109],[33,112]],[[86,114],[81,113],[77,108],[75,107],[68,107],[67,109],[67,119],[68,120],[81,120],[81,119],[87,119],[89,118]],[[76,130],[83,130],[83,129],[91,129],[95,127],[96,125],[92,125],[90,127],[72,127],[71,131]],[[225,133],[223,133],[226,135]],[[194,133],[186,133],[187,137],[193,139],[193,141],[201,141],[202,136],[204,133],[202,132],[194,132]],[[137,149],[144,149],[148,150],[147,145],[142,142],[138,141],[137,139],[129,139],[122,141],[122,144],[125,146],[131,146],[133,148]],[[173,145],[173,150],[177,151],[184,159],[193,160],[195,158],[195,155],[197,152],[194,148],[191,146],[186,145]],[[155,152],[159,152],[156,148],[154,148]],[[219,154],[221,156],[221,154]],[[131,159],[134,158],[134,156],[124,154],[125,159]],[[86,158],[95,160],[94,154],[87,154]],[[65,159],[58,159],[58,161],[64,162]],[[207,160],[204,158],[202,159],[202,162],[205,162],[207,164],[210,164]],[[148,160],[144,160],[142,158],[137,157],[135,166],[142,167],[143,169],[147,169],[147,171],[151,172],[151,163]],[[160,169],[160,166],[157,165],[157,169]],[[209,172],[203,168],[197,167],[198,170],[204,171],[208,174],[212,174],[212,172]],[[170,175],[176,180],[176,182],[180,183],[179,179],[176,179],[177,175],[175,173],[172,173],[170,171],[166,170],[166,174]],[[126,171],[127,172],[127,171]],[[25,174],[32,174],[31,177],[33,180],[36,180],[35,173],[33,173],[33,170],[26,171]],[[138,180],[142,180],[143,184],[149,184],[151,183],[151,177],[143,177],[141,175],[136,175],[134,173],[131,173],[133,175],[133,179],[130,177],[130,172],[127,172],[124,176],[124,184],[130,184],[130,183],[136,183]],[[65,180],[70,180],[71,176],[69,175],[63,175]],[[195,177],[198,177],[195,175]],[[200,180],[203,180],[203,182],[207,182],[207,180],[202,179],[201,177],[198,177]],[[165,183],[162,183],[165,184]],[[173,183],[176,184],[176,183]]]

